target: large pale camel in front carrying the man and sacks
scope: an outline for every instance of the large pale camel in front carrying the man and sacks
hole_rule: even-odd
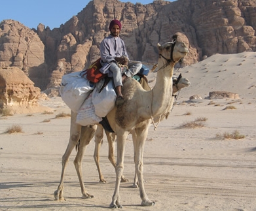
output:
[[[154,201],[149,200],[143,184],[143,148],[151,118],[164,114],[172,100],[172,75],[174,73],[174,65],[180,59],[185,57],[189,50],[184,42],[176,41],[157,44],[158,48],[158,71],[156,75],[156,84],[150,91],[145,91],[132,78],[128,78],[122,86],[124,103],[115,106],[113,110],[107,114],[106,118],[117,135],[117,164],[116,183],[110,208],[122,208],[120,204],[120,180],[124,169],[124,147],[128,134],[132,132],[134,141],[134,163],[136,168],[137,180],[139,184],[139,195],[141,197],[141,206],[153,206]],[[77,170],[79,182],[82,191],[82,198],[92,198],[84,187],[82,180],[82,157],[86,150],[86,146],[94,137],[97,125],[88,125],[82,127],[75,123],[76,115],[71,112],[70,137],[67,149],[62,157],[62,173],[58,189],[54,191],[56,200],[63,200],[64,191],[64,174],[65,167],[69,156],[80,139],[77,155],[75,156],[74,165]]]

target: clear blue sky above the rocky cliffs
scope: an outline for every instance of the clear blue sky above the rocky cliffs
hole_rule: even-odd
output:
[[[121,0],[128,1],[143,5],[153,3],[153,0]],[[30,29],[37,29],[39,24],[44,24],[50,29],[58,28],[81,12],[89,2],[90,0],[0,0],[0,22],[12,19]]]

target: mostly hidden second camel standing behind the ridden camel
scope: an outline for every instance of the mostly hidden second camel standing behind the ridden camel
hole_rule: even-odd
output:
[[[154,118],[154,121],[162,121],[164,120],[164,118],[168,118],[168,115],[170,113],[170,110],[172,110],[172,107],[174,105],[174,101],[175,101],[175,96],[176,93],[178,91],[180,91],[181,89],[188,87],[191,82],[189,82],[189,80],[187,78],[183,78],[180,74],[180,76],[172,76],[172,83],[173,83],[173,93],[172,93],[172,100],[170,103],[170,106],[166,109],[166,112],[164,112],[164,115],[162,115],[161,117],[158,116],[156,118]],[[102,138],[103,138],[103,127],[102,125],[98,125],[96,133],[95,133],[95,149],[94,149],[94,161],[96,163],[97,169],[98,169],[98,173],[99,173],[99,178],[100,178],[100,182],[107,182],[105,180],[105,178],[103,177],[103,174],[101,173],[101,169],[100,169],[100,148],[101,148],[101,144],[103,142]],[[116,161],[115,161],[115,133],[111,133],[109,131],[105,131],[105,135],[107,136],[107,142],[109,145],[109,161],[112,163],[112,165],[115,167],[116,165]],[[124,177],[124,175],[121,176],[121,182],[128,182],[128,179],[126,179]],[[134,184],[132,187],[137,187],[137,176],[134,176]]]

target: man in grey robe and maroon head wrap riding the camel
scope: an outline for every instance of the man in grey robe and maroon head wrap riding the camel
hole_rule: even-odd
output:
[[[119,20],[112,20],[109,24],[109,37],[103,39],[100,44],[100,56],[101,56],[101,73],[107,73],[109,77],[113,77],[115,88],[117,89],[116,104],[121,105],[124,103],[124,97],[122,96],[122,81],[126,77],[132,77],[138,73],[142,67],[141,63],[130,62],[124,41],[120,39],[120,30],[122,28]],[[126,67],[120,67],[121,65],[127,65]]]

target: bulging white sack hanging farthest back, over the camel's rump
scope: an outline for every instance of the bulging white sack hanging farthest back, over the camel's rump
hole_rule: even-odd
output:
[[[95,84],[83,78],[81,72],[62,76],[62,86],[59,90],[64,103],[76,113],[92,89],[95,88]]]

